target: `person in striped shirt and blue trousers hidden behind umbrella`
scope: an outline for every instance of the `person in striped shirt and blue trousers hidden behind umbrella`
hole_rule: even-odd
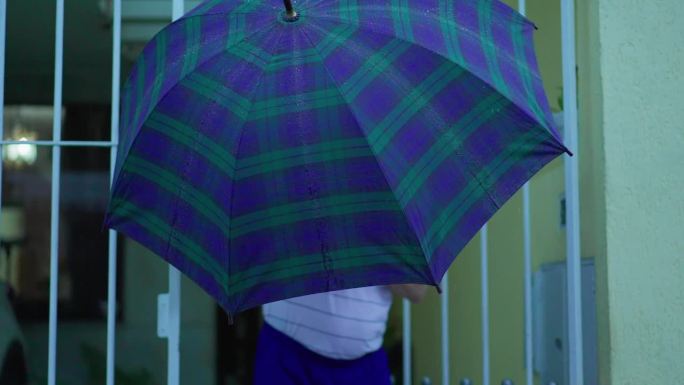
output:
[[[389,385],[382,348],[393,295],[419,302],[427,286],[369,286],[263,306],[255,385]]]

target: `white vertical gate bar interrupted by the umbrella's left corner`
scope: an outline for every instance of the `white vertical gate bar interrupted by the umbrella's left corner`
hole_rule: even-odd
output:
[[[110,122],[110,186],[114,182],[116,150],[119,142],[119,90],[121,82],[121,0],[112,1],[112,111]],[[107,385],[114,385],[116,361],[116,232],[109,230],[107,251]]]

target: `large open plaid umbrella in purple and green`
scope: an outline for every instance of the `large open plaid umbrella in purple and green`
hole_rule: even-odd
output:
[[[229,314],[437,285],[567,151],[534,25],[496,0],[209,0],[123,88],[107,225]]]

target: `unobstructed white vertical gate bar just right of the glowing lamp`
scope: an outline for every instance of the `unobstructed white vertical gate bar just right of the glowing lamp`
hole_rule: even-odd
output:
[[[64,60],[64,0],[57,0],[55,21],[55,90],[52,111],[52,140],[62,138],[62,73]],[[55,385],[57,369],[57,280],[59,277],[59,187],[61,147],[52,147],[52,195],[50,207],[50,318],[48,384]]]

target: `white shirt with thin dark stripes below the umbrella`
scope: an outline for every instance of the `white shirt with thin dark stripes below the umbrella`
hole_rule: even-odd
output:
[[[380,348],[392,305],[385,286],[312,294],[265,304],[264,320],[320,355],[355,359]]]

